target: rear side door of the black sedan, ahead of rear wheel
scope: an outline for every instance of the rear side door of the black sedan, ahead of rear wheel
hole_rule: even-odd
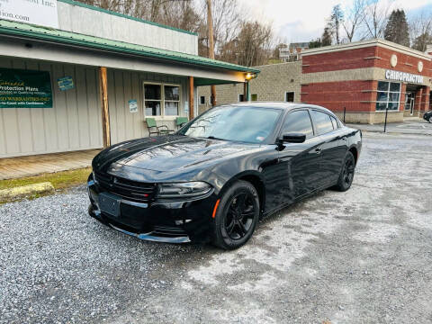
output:
[[[338,129],[338,122],[327,112],[312,109],[311,117],[321,138],[320,186],[325,187],[338,181],[342,158],[345,157],[345,150],[341,145],[343,131]]]

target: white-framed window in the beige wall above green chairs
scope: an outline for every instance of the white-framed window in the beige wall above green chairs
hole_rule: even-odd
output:
[[[180,86],[144,84],[146,116],[178,116]]]

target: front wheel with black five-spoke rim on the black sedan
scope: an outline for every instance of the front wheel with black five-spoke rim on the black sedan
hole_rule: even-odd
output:
[[[237,181],[220,198],[213,222],[213,244],[226,250],[241,247],[252,237],[258,219],[257,189],[247,181]]]

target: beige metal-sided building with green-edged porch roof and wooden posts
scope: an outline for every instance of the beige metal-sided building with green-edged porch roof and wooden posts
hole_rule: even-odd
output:
[[[196,87],[256,68],[198,56],[198,36],[71,0],[16,0],[0,15],[0,157],[102,148],[175,130]]]

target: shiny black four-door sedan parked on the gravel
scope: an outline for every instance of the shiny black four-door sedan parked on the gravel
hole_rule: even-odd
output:
[[[361,148],[361,131],[320,106],[223,105],[94,157],[89,213],[137,238],[232,249],[260,217],[329,187],[347,191]]]

